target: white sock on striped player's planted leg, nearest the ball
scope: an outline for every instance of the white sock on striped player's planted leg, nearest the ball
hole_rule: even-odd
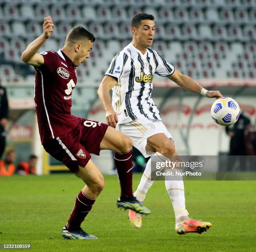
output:
[[[170,171],[175,172],[181,170],[170,169]],[[176,179],[177,178],[179,178],[180,180],[173,180],[175,178],[172,178],[172,176],[166,177],[165,180],[166,191],[172,201],[176,222],[179,221],[180,217],[188,216],[189,214],[185,206],[184,183],[182,180],[182,176],[176,176]]]

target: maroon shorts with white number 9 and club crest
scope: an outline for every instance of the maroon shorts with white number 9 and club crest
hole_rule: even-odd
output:
[[[79,171],[91,158],[90,153],[100,155],[100,143],[108,125],[81,118],[80,124],[69,132],[44,143],[44,149],[64,163],[70,171]]]

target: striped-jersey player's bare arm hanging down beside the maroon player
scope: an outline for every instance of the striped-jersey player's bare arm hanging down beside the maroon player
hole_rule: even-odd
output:
[[[108,122],[108,125],[110,125],[113,128],[115,128],[116,124],[118,123],[118,116],[111,104],[109,92],[110,89],[115,87],[116,83],[117,81],[115,78],[109,75],[105,75],[97,91],[101,105],[103,109],[105,109],[106,111],[106,120]]]

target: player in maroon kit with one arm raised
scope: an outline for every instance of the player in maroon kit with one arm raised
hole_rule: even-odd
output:
[[[90,56],[95,37],[81,26],[72,28],[62,49],[37,53],[53,32],[51,16],[44,18],[44,32],[31,42],[21,59],[35,67],[35,104],[41,143],[46,152],[66,165],[86,184],[77,195],[74,208],[62,230],[66,239],[97,239],[81,223],[104,187],[104,178],[90,153],[115,151],[115,165],[121,187],[117,206],[150,214],[133,196],[132,141],[108,125],[71,115],[72,89],[77,84],[76,68]]]

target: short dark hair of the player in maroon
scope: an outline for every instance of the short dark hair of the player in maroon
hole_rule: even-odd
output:
[[[76,26],[72,28],[67,34],[66,42],[77,43],[78,41],[86,38],[92,42],[95,41],[95,36],[90,33],[90,31],[87,31],[82,26]]]

